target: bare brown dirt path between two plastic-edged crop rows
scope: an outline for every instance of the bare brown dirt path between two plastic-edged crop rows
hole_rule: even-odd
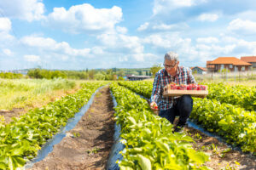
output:
[[[105,169],[113,145],[113,112],[109,88],[102,88],[77,126],[32,169]]]

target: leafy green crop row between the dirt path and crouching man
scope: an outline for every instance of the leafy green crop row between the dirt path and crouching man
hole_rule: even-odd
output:
[[[118,106],[116,122],[121,126],[124,169],[207,169],[201,164],[208,156],[192,148],[191,139],[184,133],[172,133],[172,124],[155,116],[148,103],[127,88],[111,85]]]

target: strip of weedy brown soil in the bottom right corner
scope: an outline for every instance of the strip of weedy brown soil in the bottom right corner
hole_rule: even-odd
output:
[[[185,127],[184,133],[194,139],[195,150],[204,151],[210,156],[210,161],[205,164],[207,167],[214,170],[256,170],[256,156],[238,150],[230,150],[227,144],[209,137],[193,127]]]

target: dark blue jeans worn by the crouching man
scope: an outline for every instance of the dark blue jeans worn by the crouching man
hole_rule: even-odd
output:
[[[183,95],[171,109],[160,111],[159,116],[166,118],[173,124],[175,116],[179,116],[177,126],[184,126],[193,109],[193,99],[190,95]]]

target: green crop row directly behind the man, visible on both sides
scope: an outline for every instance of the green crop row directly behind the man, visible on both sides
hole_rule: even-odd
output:
[[[141,95],[149,95],[152,91],[152,85],[148,85],[147,82],[120,82],[120,84]],[[144,90],[143,94],[142,90]],[[194,98],[193,111],[189,118],[201,124],[208,131],[223,136],[227,143],[239,145],[243,151],[255,154],[255,111],[245,111],[243,108],[220,103],[217,100]]]

